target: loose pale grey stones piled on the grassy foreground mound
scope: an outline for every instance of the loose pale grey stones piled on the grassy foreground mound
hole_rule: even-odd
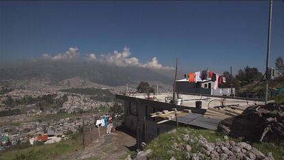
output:
[[[226,139],[226,137],[225,137]],[[169,155],[174,155],[176,150],[185,150],[186,159],[191,160],[202,160],[202,159],[243,159],[243,160],[255,160],[255,159],[265,159],[272,160],[272,153],[264,155],[262,152],[253,148],[250,144],[246,142],[236,143],[235,141],[221,141],[221,139],[216,139],[215,143],[210,143],[206,138],[200,136],[190,137],[189,135],[184,135],[180,143],[174,143],[172,145],[172,150],[167,150]],[[194,142],[198,141],[198,152],[191,152],[192,146],[196,145]],[[147,159],[147,155],[150,155],[152,150],[145,150],[145,152],[140,152],[135,159]],[[129,160],[128,157],[126,160]],[[180,159],[180,157],[171,157],[170,160]]]

